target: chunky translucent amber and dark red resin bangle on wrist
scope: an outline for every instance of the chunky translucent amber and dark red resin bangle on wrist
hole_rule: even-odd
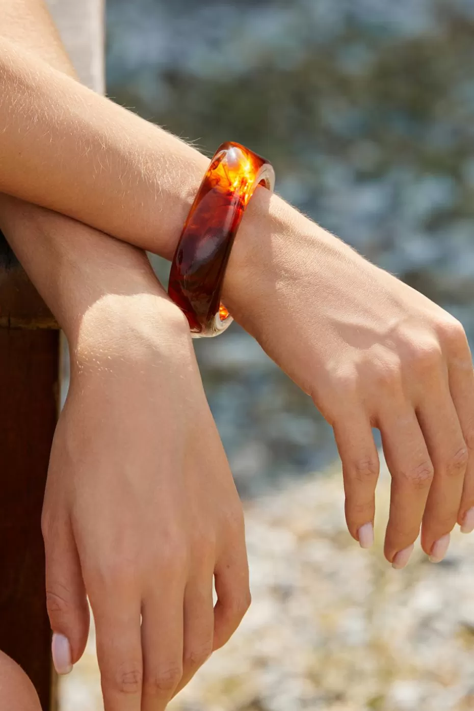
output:
[[[224,143],[200,185],[171,264],[168,294],[193,337],[217,336],[232,323],[220,301],[230,250],[255,188],[273,191],[274,170],[238,143]]]

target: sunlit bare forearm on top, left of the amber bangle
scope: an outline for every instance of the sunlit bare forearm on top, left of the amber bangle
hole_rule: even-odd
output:
[[[169,257],[208,160],[0,39],[0,189]]]

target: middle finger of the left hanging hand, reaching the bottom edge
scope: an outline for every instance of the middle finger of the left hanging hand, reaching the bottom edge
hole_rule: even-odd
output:
[[[181,577],[162,577],[142,609],[144,681],[141,711],[162,711],[183,676]]]

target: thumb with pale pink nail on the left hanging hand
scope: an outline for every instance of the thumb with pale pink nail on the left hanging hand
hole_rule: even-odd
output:
[[[68,674],[85,650],[90,627],[89,605],[70,522],[51,526],[45,523],[43,516],[43,538],[53,663],[58,674]]]

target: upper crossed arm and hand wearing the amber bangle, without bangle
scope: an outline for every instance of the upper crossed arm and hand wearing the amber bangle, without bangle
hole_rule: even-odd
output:
[[[9,42],[0,73],[0,187],[171,257],[208,161]],[[420,528],[433,560],[456,520],[473,530],[474,375],[455,319],[264,189],[224,286],[232,315],[333,425],[361,545],[375,510],[372,427],[393,476],[387,559],[406,562]]]

